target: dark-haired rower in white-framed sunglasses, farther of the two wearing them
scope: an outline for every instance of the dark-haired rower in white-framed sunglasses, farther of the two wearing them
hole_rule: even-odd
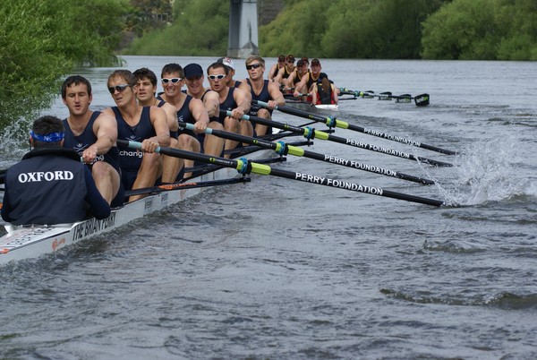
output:
[[[231,116],[221,115],[218,121],[224,125],[226,132],[252,137],[253,126],[249,121],[241,120],[244,114],[250,111],[248,93],[238,88],[228,87],[226,84],[227,73],[228,68],[225,64],[213,63],[207,68],[210,88],[218,94],[219,108],[231,111]],[[225,150],[232,150],[237,146],[238,141],[226,139]],[[228,157],[229,154],[226,156]]]

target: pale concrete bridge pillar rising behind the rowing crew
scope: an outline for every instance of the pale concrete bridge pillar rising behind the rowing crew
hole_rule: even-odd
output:
[[[257,0],[229,0],[227,56],[259,55]]]

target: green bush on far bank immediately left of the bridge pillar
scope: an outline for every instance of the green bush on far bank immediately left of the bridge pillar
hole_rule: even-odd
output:
[[[184,6],[184,7],[182,7]],[[174,23],[134,39],[124,50],[130,55],[222,56],[226,54],[229,2],[175,2]]]

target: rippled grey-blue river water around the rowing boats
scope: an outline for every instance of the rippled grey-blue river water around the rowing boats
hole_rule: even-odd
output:
[[[125,60],[160,73],[169,62],[214,59]],[[0,358],[536,358],[537,63],[321,63],[339,87],[430,94],[428,107],[341,101],[341,120],[459,154],[344,129],[338,136],[455,166],[315,140],[312,151],[437,184],[303,158],[277,167],[458,206],[271,176],[211,189],[113,234],[4,267]],[[235,64],[243,78],[242,61]],[[94,85],[94,108],[113,104],[112,70],[80,72]],[[66,116],[59,99],[45,113]],[[10,142],[13,129],[2,167],[26,150]]]

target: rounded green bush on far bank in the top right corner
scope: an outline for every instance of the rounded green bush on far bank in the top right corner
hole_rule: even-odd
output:
[[[424,58],[536,60],[536,55],[533,0],[454,0],[423,23]]]

